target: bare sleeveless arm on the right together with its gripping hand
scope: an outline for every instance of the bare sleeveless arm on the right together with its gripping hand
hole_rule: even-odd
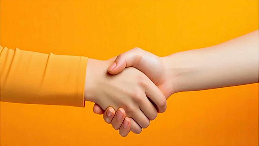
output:
[[[134,67],[145,73],[166,99],[176,92],[258,83],[258,39],[256,30],[212,47],[178,52],[166,57],[134,48],[120,54],[107,70],[116,75],[127,67]],[[104,120],[113,123],[113,127],[123,125],[122,122],[113,122],[115,110],[112,109],[106,109],[111,110],[112,115],[109,117],[104,114]],[[98,104],[94,105],[94,112],[104,113]],[[117,114],[124,112],[118,110]],[[132,127],[135,125],[123,127],[120,135],[126,136],[129,132],[127,129],[134,129]]]

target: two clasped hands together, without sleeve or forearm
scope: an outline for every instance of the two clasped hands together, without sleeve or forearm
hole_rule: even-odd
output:
[[[163,59],[140,48],[106,61],[89,59],[85,101],[96,103],[94,112],[105,112],[104,120],[121,136],[130,130],[139,134],[157,112],[166,110],[166,99],[172,94],[166,88],[171,81],[166,80]]]

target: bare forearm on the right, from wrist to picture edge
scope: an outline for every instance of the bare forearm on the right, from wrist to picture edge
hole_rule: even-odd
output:
[[[258,30],[164,59],[175,92],[258,83]]]

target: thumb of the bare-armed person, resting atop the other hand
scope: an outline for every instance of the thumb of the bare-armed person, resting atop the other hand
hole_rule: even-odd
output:
[[[141,59],[140,48],[134,48],[122,54],[119,54],[113,64],[107,69],[112,75],[116,75],[123,71],[126,67],[131,67],[137,65]]]

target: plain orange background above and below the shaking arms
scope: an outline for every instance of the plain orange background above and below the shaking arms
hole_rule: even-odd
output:
[[[258,29],[258,1],[1,1],[3,47],[108,59],[133,47],[159,56]],[[140,135],[85,108],[1,102],[1,145],[258,145],[258,84],[168,99]]]

